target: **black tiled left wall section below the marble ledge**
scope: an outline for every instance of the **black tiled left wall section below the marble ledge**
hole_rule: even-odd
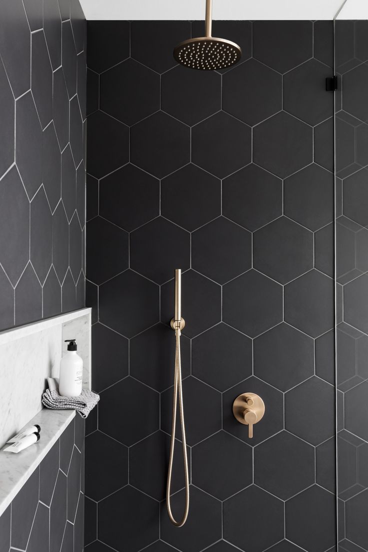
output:
[[[83,552],[83,466],[77,415],[0,517],[1,552]]]

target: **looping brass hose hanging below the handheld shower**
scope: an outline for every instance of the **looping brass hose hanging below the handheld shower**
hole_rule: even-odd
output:
[[[189,512],[189,472],[188,472],[188,458],[186,457],[186,439],[185,439],[185,423],[184,423],[184,408],[183,408],[183,389],[182,389],[182,360],[180,358],[180,328],[175,328],[175,371],[174,371],[174,397],[173,397],[173,424],[171,430],[171,443],[170,443],[170,458],[169,469],[167,474],[167,487],[166,487],[166,506],[167,513],[169,514],[170,521],[176,527],[182,527],[186,522]],[[181,521],[176,521],[170,504],[170,487],[171,478],[173,472],[174,461],[174,448],[175,448],[175,428],[177,424],[177,405],[179,397],[179,414],[180,424],[182,426],[182,444],[183,444],[183,460],[184,460],[184,476],[185,476],[185,508]]]

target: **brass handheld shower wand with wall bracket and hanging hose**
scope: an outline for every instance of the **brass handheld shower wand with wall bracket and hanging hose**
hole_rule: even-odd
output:
[[[169,515],[170,521],[176,527],[182,527],[186,522],[186,518],[188,518],[188,513],[189,513],[189,471],[188,471],[188,458],[186,456],[186,438],[185,438],[183,389],[182,389],[182,359],[180,355],[180,335],[185,326],[185,321],[182,318],[182,270],[180,270],[179,268],[175,270],[175,311],[174,311],[174,318],[170,322],[170,326],[175,331],[175,368],[174,368],[173,421],[172,421],[172,429],[171,429],[169,468],[167,473],[166,507],[167,507],[167,513]],[[184,507],[184,514],[181,521],[175,520],[171,511],[171,505],[170,505],[170,487],[171,487],[171,477],[173,472],[178,397],[179,397],[180,424],[182,426],[182,445],[183,445],[184,476],[185,476],[185,507]]]

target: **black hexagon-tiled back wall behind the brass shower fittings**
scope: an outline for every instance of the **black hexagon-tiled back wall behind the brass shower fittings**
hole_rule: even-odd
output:
[[[242,62],[177,66],[174,45],[202,26],[88,24],[87,304],[101,399],[86,438],[86,552],[324,552],[336,544],[333,25],[214,22]],[[191,469],[181,529],[164,501],[178,267]],[[247,390],[266,405],[252,440],[232,415]],[[180,442],[175,454],[180,516]]]

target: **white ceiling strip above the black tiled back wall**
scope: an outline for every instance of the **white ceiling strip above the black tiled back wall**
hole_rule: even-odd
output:
[[[205,0],[80,0],[87,19],[173,20],[204,19]],[[214,19],[333,19],[343,0],[213,0]],[[368,11],[367,0],[347,0]],[[359,8],[360,4],[360,8]],[[354,8],[354,6],[353,6]],[[343,12],[342,10],[342,12]],[[341,17],[343,13],[340,14]],[[367,14],[368,18],[368,14]]]

